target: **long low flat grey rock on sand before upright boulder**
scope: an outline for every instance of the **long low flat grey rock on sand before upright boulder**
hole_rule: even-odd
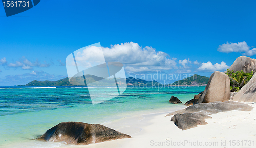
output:
[[[210,103],[195,104],[185,109],[169,113],[166,116],[174,115],[177,113],[179,114],[200,113],[204,115],[210,115],[210,114],[224,112],[224,111],[231,111],[231,110],[250,111],[252,109],[253,109],[252,106],[248,104],[240,103],[240,102],[233,102],[233,101],[210,102]]]

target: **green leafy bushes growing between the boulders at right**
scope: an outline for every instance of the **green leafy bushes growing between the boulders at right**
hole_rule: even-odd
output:
[[[230,79],[230,91],[237,92],[249,82],[253,76],[253,71],[251,73],[245,73],[242,70],[234,72],[227,69],[226,73]]]

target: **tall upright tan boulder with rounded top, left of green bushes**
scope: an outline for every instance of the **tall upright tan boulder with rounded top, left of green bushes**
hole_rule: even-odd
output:
[[[215,101],[228,101],[230,98],[229,77],[219,71],[211,74],[209,82],[197,103],[209,103]]]

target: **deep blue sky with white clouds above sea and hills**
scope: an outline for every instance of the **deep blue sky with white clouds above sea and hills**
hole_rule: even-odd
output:
[[[6,17],[0,5],[0,86],[65,78],[67,56],[98,42],[106,61],[123,63],[126,77],[210,77],[239,56],[256,58],[255,6],[256,1],[41,0]]]

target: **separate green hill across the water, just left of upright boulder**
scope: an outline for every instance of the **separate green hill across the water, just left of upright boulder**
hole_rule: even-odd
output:
[[[188,85],[188,86],[207,85],[209,79],[210,78],[208,78],[208,77],[194,74],[191,77],[176,81],[176,82],[172,83],[172,85]]]

